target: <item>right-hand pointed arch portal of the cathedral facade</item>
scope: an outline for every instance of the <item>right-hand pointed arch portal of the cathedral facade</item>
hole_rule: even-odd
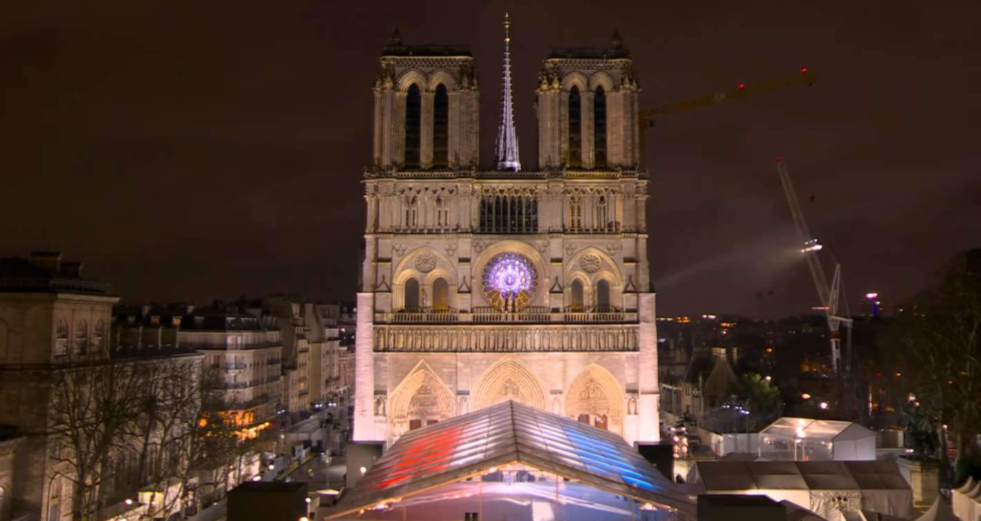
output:
[[[569,386],[565,414],[623,436],[625,401],[616,377],[602,366],[590,364]]]

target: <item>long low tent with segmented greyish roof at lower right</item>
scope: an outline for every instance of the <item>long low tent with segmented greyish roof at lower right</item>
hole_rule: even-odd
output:
[[[840,521],[871,511],[909,519],[912,491],[896,463],[881,461],[699,461],[689,474],[703,494],[765,494]]]

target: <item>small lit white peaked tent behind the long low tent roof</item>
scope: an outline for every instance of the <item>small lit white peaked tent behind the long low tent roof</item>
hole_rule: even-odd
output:
[[[875,433],[854,422],[783,417],[759,433],[759,455],[799,461],[875,459]]]

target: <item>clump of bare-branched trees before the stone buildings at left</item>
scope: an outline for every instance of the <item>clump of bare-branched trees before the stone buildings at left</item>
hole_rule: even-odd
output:
[[[256,440],[242,440],[217,371],[189,356],[134,357],[61,369],[50,385],[52,475],[74,485],[73,516],[157,491],[153,513],[181,510],[196,481],[224,487]],[[120,489],[119,474],[129,480]],[[165,515],[166,515],[165,514]]]

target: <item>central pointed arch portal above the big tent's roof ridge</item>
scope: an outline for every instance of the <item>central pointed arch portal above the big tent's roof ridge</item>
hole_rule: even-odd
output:
[[[505,358],[491,365],[481,376],[471,410],[490,407],[509,399],[546,408],[545,393],[539,379],[525,364]]]

